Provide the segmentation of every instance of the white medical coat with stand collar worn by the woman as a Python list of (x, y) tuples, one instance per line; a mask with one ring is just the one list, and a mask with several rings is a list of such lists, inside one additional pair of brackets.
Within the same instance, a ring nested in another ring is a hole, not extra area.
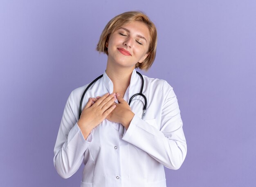
[[(186, 156), (186, 139), (173, 88), (164, 80), (144, 76), (144, 99), (136, 96), (131, 104), (135, 113), (122, 135), (122, 125), (104, 120), (85, 140), (77, 121), (83, 91), (73, 90), (67, 99), (54, 147), (54, 166), (63, 178), (69, 178), (84, 164), (81, 187), (166, 187), (164, 166), (179, 169)], [(124, 99), (138, 93), (141, 78), (133, 70)], [(85, 94), (90, 97), (113, 92), (106, 72)], [(116, 101), (117, 102), (117, 101)]]

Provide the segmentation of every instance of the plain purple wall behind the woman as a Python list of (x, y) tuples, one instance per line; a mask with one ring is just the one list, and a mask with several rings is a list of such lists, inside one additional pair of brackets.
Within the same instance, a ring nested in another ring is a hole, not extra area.
[(0, 186), (80, 186), (53, 149), (68, 95), (101, 75), (95, 50), (115, 15), (144, 11), (158, 31), (144, 75), (177, 95), (188, 152), (168, 187), (256, 185), (255, 0), (1, 0)]

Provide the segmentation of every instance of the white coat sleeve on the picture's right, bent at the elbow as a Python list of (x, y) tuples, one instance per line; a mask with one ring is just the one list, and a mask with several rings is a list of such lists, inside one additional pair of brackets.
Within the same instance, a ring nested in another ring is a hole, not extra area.
[(179, 169), (186, 157), (186, 139), (173, 88), (164, 81), (160, 130), (135, 114), (123, 140), (139, 147), (170, 169)]

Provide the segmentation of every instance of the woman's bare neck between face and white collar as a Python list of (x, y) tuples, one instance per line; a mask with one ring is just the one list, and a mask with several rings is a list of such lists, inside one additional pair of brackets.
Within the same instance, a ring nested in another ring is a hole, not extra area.
[(124, 93), (128, 86), (130, 85), (130, 79), (132, 76), (132, 68), (124, 68), (120, 66), (111, 66), (110, 63), (107, 64), (106, 74), (113, 83), (114, 90), (113, 92), (119, 92), (121, 96), (124, 96)]

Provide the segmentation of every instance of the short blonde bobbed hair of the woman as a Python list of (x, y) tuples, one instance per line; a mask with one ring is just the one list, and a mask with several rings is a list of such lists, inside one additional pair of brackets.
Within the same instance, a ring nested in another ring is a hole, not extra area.
[(124, 12), (115, 16), (115, 18), (112, 18), (112, 20), (110, 20), (103, 29), (96, 50), (108, 55), (108, 48), (106, 47), (106, 42), (108, 42), (110, 35), (124, 24), (135, 21), (146, 24), (146, 26), (148, 26), (150, 34), (150, 43), (147, 52), (149, 54), (142, 63), (138, 62), (135, 65), (135, 68), (140, 68), (141, 70), (147, 71), (155, 60), (157, 50), (157, 29), (155, 27), (155, 24), (148, 18), (148, 16), (141, 11)]

